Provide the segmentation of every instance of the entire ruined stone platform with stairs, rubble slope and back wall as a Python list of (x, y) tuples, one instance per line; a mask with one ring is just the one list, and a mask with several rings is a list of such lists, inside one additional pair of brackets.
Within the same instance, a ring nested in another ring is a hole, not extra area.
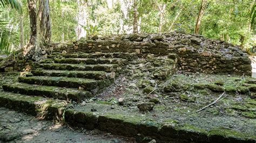
[[(256, 80), (237, 46), (181, 33), (56, 44), (0, 106), (137, 141), (255, 142)], [(5, 76), (8, 77), (8, 76)], [(199, 113), (221, 93), (225, 97)], [(141, 111), (140, 103), (153, 110)]]

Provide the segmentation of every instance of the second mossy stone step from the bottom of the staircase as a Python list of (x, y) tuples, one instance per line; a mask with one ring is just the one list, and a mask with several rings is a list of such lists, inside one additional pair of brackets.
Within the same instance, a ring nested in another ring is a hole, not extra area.
[(8, 83), (3, 86), (4, 91), (16, 92), (31, 96), (44, 96), (53, 99), (79, 102), (85, 98), (92, 97), (91, 92), (75, 88), (59, 88), (26, 83)]

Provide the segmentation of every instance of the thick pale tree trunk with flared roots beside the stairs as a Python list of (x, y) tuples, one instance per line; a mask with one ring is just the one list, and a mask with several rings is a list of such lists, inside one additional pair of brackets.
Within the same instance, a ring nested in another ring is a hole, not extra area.
[(36, 8), (37, 0), (28, 0), (30, 18), (30, 40), (25, 46), (23, 55), (26, 59), (38, 61), (46, 54), (45, 47), (51, 40), (51, 23), (49, 0), (40, 0), (39, 9)]

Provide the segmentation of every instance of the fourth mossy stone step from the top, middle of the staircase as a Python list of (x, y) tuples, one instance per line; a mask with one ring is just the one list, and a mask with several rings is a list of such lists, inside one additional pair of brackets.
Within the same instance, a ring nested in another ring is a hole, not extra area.
[(105, 71), (77, 71), (77, 70), (44, 70), (36, 69), (31, 70), (31, 73), (36, 76), (66, 76), (66, 77), (79, 77), (91, 78), (96, 80), (104, 80), (107, 78), (114, 78), (115, 73), (106, 73)]

